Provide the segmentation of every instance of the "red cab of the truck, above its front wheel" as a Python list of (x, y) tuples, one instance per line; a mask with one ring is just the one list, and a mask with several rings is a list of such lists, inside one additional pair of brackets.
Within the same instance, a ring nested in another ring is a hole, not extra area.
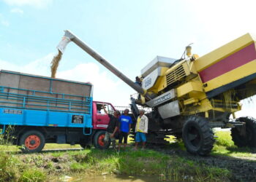
[(104, 109), (102, 108), (104, 105), (105, 109), (108, 111), (109, 114), (113, 114), (113, 107), (108, 103), (96, 103), (96, 111), (95, 111), (95, 121), (94, 121), (94, 128), (95, 129), (103, 129), (105, 130), (108, 127), (108, 123), (110, 118), (108, 114), (105, 114)]

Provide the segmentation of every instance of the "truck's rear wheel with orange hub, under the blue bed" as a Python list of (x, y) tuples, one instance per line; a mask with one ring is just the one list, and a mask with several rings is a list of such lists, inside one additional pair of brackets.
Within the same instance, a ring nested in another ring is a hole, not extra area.
[(28, 153), (42, 151), (45, 146), (45, 137), (37, 130), (26, 131), (20, 137), (20, 146), (22, 151)]

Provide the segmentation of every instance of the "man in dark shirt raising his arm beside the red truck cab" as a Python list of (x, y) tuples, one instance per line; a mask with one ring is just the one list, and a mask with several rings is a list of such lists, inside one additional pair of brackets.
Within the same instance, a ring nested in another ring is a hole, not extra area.
[[(105, 114), (108, 114), (108, 111), (106, 110), (104, 105), (102, 105), (102, 108), (104, 109)], [(110, 117), (110, 121), (108, 123), (107, 131), (105, 132), (104, 141), (108, 142), (108, 140), (110, 139), (114, 150), (116, 150), (115, 134), (116, 134), (116, 132), (118, 132), (118, 126), (119, 126), (118, 117), (120, 115), (121, 114), (119, 111), (114, 111), (114, 115), (108, 114), (108, 116)]]

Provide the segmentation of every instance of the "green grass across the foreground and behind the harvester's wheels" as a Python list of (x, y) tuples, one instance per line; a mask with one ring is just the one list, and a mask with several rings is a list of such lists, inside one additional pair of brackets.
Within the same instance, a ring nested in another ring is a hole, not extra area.
[[(256, 157), (252, 149), (234, 146), (230, 132), (216, 132), (217, 142), (212, 155), (230, 157)], [(181, 142), (170, 148), (185, 150)], [(153, 176), (162, 181), (228, 181), (231, 172), (225, 168), (210, 167), (176, 154), (167, 155), (158, 151), (102, 151), (86, 149), (76, 151), (48, 151), (38, 154), (6, 152), (18, 150), (15, 146), (1, 146), (0, 181), (59, 181), (62, 175), (133, 175)], [(10, 148), (9, 148), (10, 147)], [(47, 144), (46, 149), (80, 148), (80, 146)], [(254, 151), (255, 152), (255, 151)]]

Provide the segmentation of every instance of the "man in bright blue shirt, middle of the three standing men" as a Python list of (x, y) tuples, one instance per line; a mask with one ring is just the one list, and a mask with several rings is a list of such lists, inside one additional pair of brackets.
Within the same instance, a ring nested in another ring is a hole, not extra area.
[(132, 125), (132, 118), (128, 116), (129, 109), (126, 108), (124, 110), (124, 114), (122, 114), (119, 117), (119, 122), (120, 122), (120, 133), (119, 133), (119, 141), (118, 141), (118, 151), (120, 151), (121, 148), (121, 143), (124, 139), (124, 150), (127, 146), (127, 138), (129, 135), (129, 130), (131, 129)]

